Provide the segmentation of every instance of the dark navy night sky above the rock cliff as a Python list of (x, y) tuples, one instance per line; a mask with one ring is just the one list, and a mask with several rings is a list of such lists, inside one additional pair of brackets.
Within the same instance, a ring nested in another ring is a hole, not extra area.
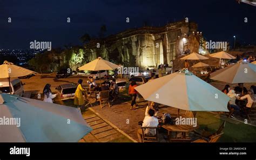
[(33, 40), (51, 41), (52, 47), (82, 45), (79, 38), (85, 33), (97, 37), (103, 24), (110, 35), (142, 27), (144, 21), (163, 26), (185, 17), (198, 24), (207, 40), (233, 43), (235, 35), (242, 44), (256, 43), (256, 7), (235, 0), (0, 0), (0, 49), (29, 49)]

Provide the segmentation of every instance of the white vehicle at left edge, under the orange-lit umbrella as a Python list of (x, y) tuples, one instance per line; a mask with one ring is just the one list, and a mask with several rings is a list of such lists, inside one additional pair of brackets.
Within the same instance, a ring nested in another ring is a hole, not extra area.
[(11, 91), (9, 86), (9, 81), (7, 78), (0, 79), (0, 91), (3, 93), (11, 93), (11, 94), (17, 94), (19, 96), (23, 96), (24, 89), (23, 89), (23, 83), (21, 82), (21, 79), (19, 78), (11, 78)]

